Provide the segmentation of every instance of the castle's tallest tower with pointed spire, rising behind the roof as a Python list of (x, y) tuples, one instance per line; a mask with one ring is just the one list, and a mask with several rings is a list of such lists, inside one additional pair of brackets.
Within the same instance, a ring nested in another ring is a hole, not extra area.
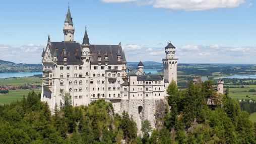
[(64, 27), (63, 27), (63, 33), (64, 33), (64, 41), (63, 42), (73, 42), (74, 41), (74, 33), (75, 28), (73, 27), (73, 21), (70, 13), (70, 6), (68, 10), (68, 14), (66, 15)]

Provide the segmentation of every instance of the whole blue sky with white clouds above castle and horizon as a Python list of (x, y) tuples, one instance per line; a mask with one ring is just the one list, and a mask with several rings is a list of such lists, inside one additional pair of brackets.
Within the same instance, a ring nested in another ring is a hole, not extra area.
[(1, 60), (40, 63), (47, 42), (63, 41), (70, 2), (74, 40), (87, 25), (91, 44), (121, 42), (127, 61), (157, 61), (167, 42), (180, 63), (255, 63), (252, 0), (3, 1)]

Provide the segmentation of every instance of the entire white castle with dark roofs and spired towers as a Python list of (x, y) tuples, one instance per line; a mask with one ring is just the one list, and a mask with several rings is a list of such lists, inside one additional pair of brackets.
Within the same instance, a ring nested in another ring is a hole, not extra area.
[(48, 36), (42, 53), (41, 101), (53, 109), (55, 104), (60, 105), (59, 94), (62, 92), (70, 93), (73, 106), (104, 99), (112, 102), (116, 113), (126, 111), (133, 116), (138, 129), (146, 119), (155, 127), (155, 103), (167, 96), (169, 82), (177, 81), (175, 47), (171, 43), (165, 47), (163, 76), (145, 74), (142, 62), (139, 62), (138, 69), (126, 72), (126, 58), (120, 43), (92, 45), (87, 29), (82, 44), (74, 41), (75, 27), (70, 8), (63, 33), (62, 42), (51, 42)]

